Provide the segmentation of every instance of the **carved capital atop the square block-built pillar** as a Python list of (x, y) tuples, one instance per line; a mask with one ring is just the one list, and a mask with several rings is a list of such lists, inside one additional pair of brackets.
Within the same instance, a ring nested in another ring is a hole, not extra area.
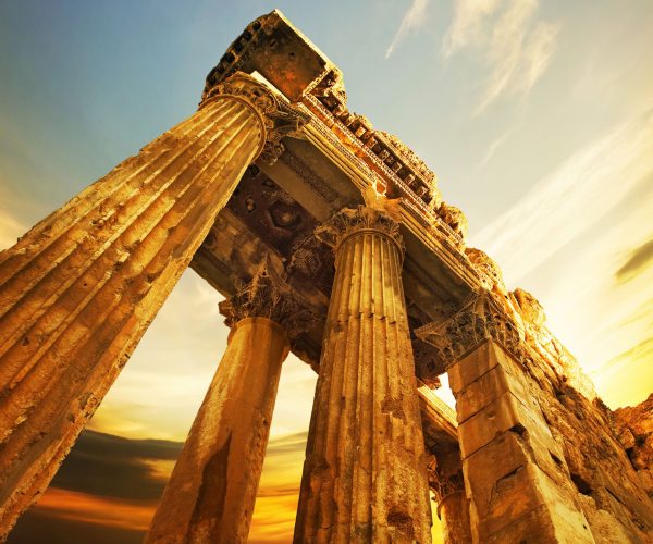
[(442, 322), (417, 329), (415, 334), (434, 346), (443, 370), (488, 339), (501, 344), (518, 360), (529, 357), (523, 331), (489, 294), (478, 296)]

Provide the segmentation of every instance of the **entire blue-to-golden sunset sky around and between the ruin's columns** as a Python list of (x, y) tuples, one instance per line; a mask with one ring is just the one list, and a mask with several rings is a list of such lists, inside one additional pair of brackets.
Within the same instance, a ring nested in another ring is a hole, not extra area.
[[(281, 9), (531, 292), (612, 408), (653, 392), (653, 2), (0, 0), (0, 249), (193, 113)], [(224, 351), (186, 272), (10, 542), (139, 542)], [(282, 371), (250, 542), (292, 535), (316, 376)], [(446, 392), (443, 396), (447, 397)]]

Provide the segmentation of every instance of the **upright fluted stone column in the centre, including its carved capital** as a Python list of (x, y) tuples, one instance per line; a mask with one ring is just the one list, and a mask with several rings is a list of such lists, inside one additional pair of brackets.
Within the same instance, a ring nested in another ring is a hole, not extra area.
[(359, 207), (317, 234), (335, 279), (295, 542), (431, 542), (398, 225)]

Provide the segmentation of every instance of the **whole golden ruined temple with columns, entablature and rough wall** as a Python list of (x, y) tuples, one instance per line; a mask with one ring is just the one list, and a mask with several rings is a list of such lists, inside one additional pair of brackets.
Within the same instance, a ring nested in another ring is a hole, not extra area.
[[(0, 534), (182, 272), (231, 327), (146, 542), (246, 542), (281, 364), (319, 374), (295, 542), (653, 542), (653, 397), (611, 411), (279, 12), (199, 109), (0, 254)], [(433, 394), (448, 375), (456, 413)]]

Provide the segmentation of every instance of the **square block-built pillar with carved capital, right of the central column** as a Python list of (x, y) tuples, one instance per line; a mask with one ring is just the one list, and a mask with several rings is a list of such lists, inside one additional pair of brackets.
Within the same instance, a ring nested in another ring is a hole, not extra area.
[(440, 349), (456, 397), (472, 542), (594, 542), (516, 323), (485, 295), (417, 334)]

